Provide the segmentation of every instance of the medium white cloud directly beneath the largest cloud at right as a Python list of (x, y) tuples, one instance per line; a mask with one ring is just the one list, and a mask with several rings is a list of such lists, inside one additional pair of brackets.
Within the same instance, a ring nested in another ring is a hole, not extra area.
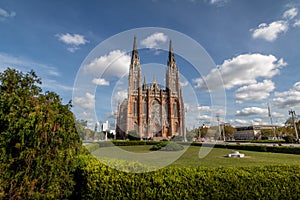
[(258, 101), (269, 97), (270, 92), (274, 89), (275, 85), (271, 80), (264, 80), (263, 82), (256, 82), (240, 87), (235, 93), (235, 98), (237, 103), (242, 103), (243, 101)]

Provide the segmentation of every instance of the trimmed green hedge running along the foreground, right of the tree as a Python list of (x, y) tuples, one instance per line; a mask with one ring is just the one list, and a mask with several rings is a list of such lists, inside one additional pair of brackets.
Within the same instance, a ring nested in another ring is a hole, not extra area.
[(135, 174), (79, 156), (75, 182), (76, 199), (300, 199), (300, 166), (165, 168)]

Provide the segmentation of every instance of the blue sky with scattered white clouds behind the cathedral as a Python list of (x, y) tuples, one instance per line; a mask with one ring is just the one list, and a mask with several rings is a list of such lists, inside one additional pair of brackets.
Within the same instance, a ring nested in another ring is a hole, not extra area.
[(134, 36), (147, 83), (162, 86), (172, 40), (189, 129), (300, 112), (300, 1), (0, 0), (0, 70), (33, 69), (90, 125), (114, 122)]

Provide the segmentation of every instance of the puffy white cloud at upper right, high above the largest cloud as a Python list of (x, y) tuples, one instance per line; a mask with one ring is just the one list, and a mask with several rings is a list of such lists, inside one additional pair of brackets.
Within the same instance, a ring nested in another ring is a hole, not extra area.
[(253, 32), (252, 37), (254, 39), (260, 38), (272, 42), (277, 39), (280, 33), (285, 33), (288, 28), (289, 26), (286, 21), (279, 20), (270, 24), (262, 23), (258, 28), (251, 31)]

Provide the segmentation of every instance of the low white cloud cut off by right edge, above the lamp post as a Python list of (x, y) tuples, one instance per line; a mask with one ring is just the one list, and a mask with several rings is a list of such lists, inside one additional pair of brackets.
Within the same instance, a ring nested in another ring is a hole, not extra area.
[(278, 108), (300, 107), (300, 82), (295, 83), (288, 91), (275, 92), (273, 102)]

